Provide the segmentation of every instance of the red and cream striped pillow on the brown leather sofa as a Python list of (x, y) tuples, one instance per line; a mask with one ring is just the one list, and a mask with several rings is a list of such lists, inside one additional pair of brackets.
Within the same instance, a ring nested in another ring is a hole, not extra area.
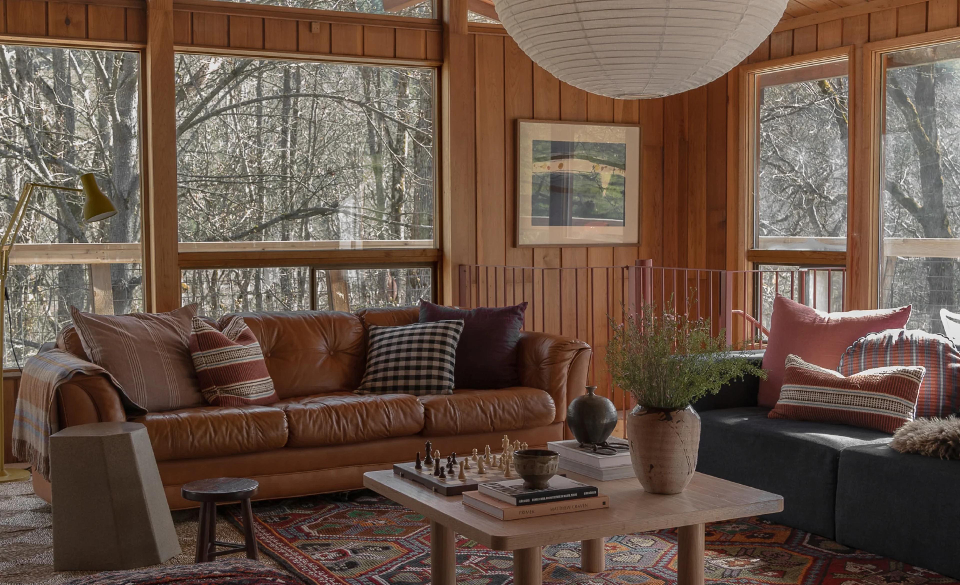
[(241, 406), (279, 400), (260, 344), (243, 317), (228, 319), (223, 329), (194, 317), (190, 353), (206, 402)]

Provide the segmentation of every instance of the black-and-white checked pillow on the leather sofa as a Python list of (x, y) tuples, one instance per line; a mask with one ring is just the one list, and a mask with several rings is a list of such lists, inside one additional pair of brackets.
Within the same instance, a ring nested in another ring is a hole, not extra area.
[(357, 394), (453, 394), (463, 319), (369, 329), (367, 373)]

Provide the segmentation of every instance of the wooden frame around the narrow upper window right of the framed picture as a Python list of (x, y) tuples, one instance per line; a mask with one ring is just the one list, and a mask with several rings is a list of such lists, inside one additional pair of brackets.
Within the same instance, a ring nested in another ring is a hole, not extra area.
[(744, 269), (746, 266), (756, 266), (761, 264), (779, 264), (796, 266), (846, 266), (851, 253), (851, 234), (852, 234), (852, 198), (854, 173), (854, 155), (855, 136), (857, 132), (857, 123), (854, 116), (850, 116), (851, 129), (848, 138), (848, 164), (847, 164), (847, 250), (846, 251), (828, 251), (828, 250), (769, 250), (756, 248), (756, 168), (759, 161), (759, 107), (760, 91), (763, 85), (760, 78), (764, 75), (776, 73), (789, 73), (799, 71), (810, 66), (818, 64), (827, 65), (838, 61), (847, 61), (850, 95), (848, 98), (851, 104), (851, 111), (855, 110), (856, 105), (856, 83), (855, 83), (855, 47), (844, 46), (826, 51), (807, 53), (793, 57), (775, 59), (771, 61), (760, 61), (739, 67), (739, 151), (735, 156), (739, 158), (739, 185), (738, 185), (738, 207), (737, 217), (740, 224), (740, 236), (742, 239), (739, 250), (743, 252), (742, 257), (738, 258), (738, 266), (729, 266), (730, 269)]

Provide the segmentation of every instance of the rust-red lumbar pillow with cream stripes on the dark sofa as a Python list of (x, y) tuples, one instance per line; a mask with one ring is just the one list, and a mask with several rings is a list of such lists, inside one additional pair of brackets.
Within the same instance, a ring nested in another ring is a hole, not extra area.
[(893, 433), (913, 420), (923, 366), (894, 366), (842, 374), (787, 355), (780, 400), (771, 419), (819, 421)]

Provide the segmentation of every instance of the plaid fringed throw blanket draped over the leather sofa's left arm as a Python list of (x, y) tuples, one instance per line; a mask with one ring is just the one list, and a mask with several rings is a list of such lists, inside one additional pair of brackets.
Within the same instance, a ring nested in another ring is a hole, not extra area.
[[(60, 384), (78, 374), (99, 374), (120, 388), (107, 370), (63, 350), (37, 353), (23, 366), (13, 414), (13, 456), (20, 461), (29, 461), (34, 471), (48, 480), (50, 435), (60, 430), (55, 428), (57, 424), (51, 416), (54, 397)], [(120, 396), (123, 396), (122, 392)]]

